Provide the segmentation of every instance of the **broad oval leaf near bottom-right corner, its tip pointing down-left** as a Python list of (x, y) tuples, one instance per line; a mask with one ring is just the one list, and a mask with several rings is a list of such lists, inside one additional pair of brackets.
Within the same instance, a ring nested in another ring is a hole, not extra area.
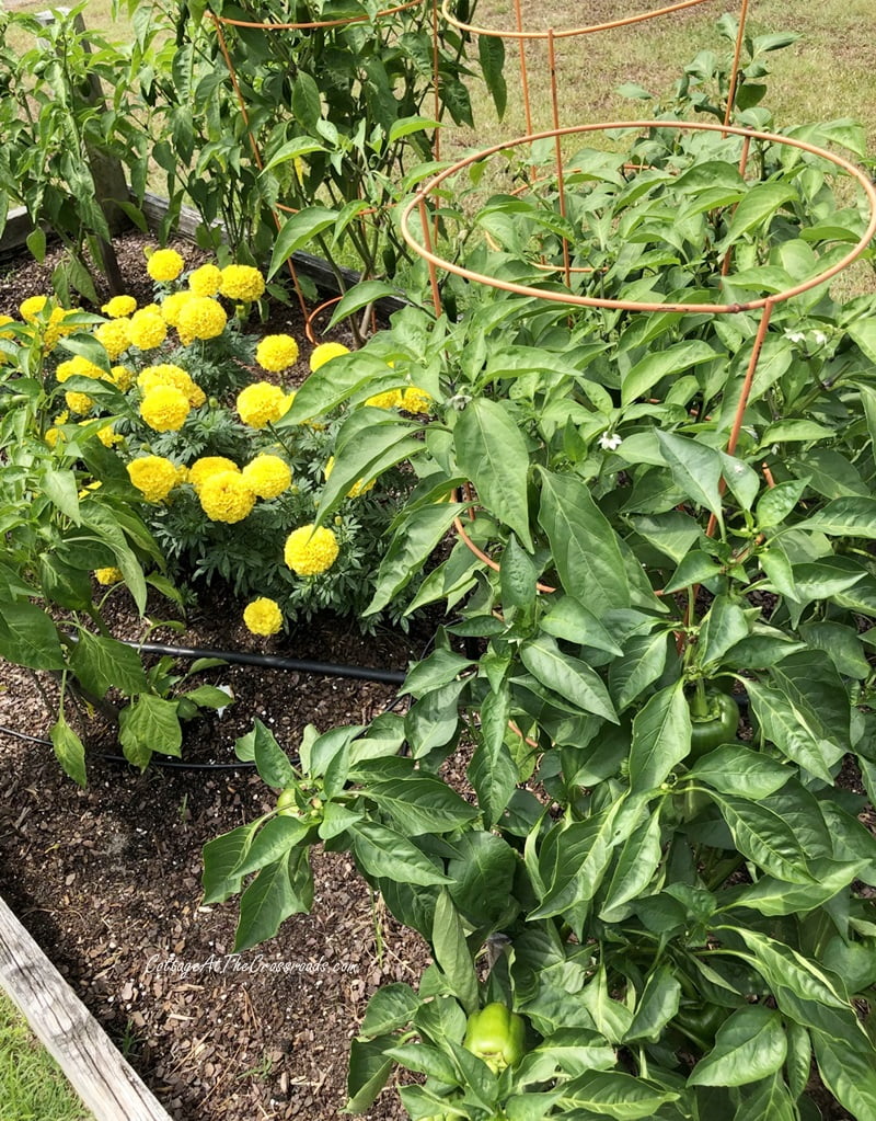
[(689, 1086), (744, 1086), (777, 1071), (788, 1055), (779, 1012), (739, 1008), (718, 1028), (715, 1046), (688, 1078)]

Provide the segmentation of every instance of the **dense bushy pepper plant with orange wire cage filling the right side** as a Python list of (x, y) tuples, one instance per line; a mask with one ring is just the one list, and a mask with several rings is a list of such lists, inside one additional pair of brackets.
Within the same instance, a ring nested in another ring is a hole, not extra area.
[[(468, 263), (557, 291), (565, 237), (603, 298), (790, 289), (866, 215), (817, 157), (753, 150), (754, 180), (720, 135), (585, 150), (565, 216), (549, 184), (493, 197)], [(249, 948), (310, 908), (321, 843), (429, 942), (419, 985), (369, 1004), (353, 1112), (398, 1065), (423, 1076), (398, 1087), (416, 1121), (810, 1121), (828, 1099), (869, 1121), (876, 297), (776, 304), (735, 438), (755, 314), (446, 290), (455, 316), (400, 312), (287, 417), (431, 395), (428, 421), (351, 413), (317, 521), (408, 462), (370, 610), (413, 582), (446, 626), (407, 714), (291, 757), (261, 724), (239, 743), (280, 808), (206, 846), (206, 901), (242, 892)]]

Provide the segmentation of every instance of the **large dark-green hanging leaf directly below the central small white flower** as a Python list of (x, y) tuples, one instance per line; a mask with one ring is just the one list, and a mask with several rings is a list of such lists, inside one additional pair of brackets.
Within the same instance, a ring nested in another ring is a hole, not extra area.
[(602, 618), (630, 606), (624, 559), (611, 524), (586, 484), (542, 470), (539, 524), (548, 535), (565, 591)]

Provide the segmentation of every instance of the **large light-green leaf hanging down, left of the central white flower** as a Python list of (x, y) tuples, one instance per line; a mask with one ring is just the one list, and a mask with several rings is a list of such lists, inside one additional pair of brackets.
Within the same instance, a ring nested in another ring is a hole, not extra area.
[(529, 448), (505, 404), (476, 398), (454, 428), (459, 470), (472, 480), (481, 504), (532, 549), (529, 530)]

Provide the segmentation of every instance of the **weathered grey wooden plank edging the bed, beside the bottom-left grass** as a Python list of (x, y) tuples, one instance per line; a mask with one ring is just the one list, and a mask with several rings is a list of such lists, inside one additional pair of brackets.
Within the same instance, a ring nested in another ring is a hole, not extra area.
[(2, 897), (0, 985), (96, 1121), (173, 1121)]

